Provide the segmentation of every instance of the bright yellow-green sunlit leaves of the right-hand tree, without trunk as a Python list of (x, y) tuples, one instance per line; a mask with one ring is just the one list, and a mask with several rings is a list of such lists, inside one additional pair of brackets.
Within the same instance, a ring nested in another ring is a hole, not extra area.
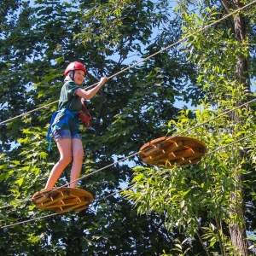
[[(201, 9), (199, 14), (183, 13), (184, 35), (191, 35), (219, 15), (202, 15), (205, 10), (212, 12), (207, 8)], [(187, 40), (188, 61), (195, 61), (198, 67), (197, 82), (203, 85), (206, 99), (192, 111), (180, 111), (168, 124), (172, 135), (200, 139), (207, 145), (207, 154), (195, 166), (177, 168), (178, 173), (176, 168), (135, 169), (134, 187), (125, 195), (138, 205), (141, 214), (166, 211), (166, 226), (171, 230), (178, 226), (190, 237), (200, 236), (202, 228), (202, 239), (209, 251), (237, 253), (231, 246), (230, 234), (224, 234), (224, 226), (230, 222), (242, 223), (239, 212), (230, 214), (243, 200), (241, 186), (246, 184), (249, 196), (252, 193), (252, 180), (242, 183), (237, 177), (249, 175), (255, 165), (255, 118), (252, 109), (235, 108), (239, 102), (247, 100), (243, 84), (234, 73), (237, 56), (247, 57), (248, 42), (240, 44), (229, 29), (224, 31), (223, 26), (219, 27), (222, 30), (209, 28)], [(249, 138), (243, 140), (247, 136)], [(245, 148), (250, 148), (251, 156)], [(159, 188), (161, 193), (158, 193)], [(234, 194), (236, 201), (232, 200)], [(177, 248), (183, 252), (180, 244)]]

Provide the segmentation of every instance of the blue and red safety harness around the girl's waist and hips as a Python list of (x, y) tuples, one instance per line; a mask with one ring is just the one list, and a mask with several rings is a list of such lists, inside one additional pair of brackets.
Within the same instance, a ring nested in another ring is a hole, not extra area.
[[(67, 109), (61, 109), (58, 111), (55, 111), (50, 119), (50, 124), (49, 124), (49, 129), (46, 137), (46, 141), (49, 142), (48, 146), (48, 151), (51, 149), (51, 137), (55, 133), (58, 128), (61, 127), (63, 124), (67, 124), (69, 119), (75, 118), (75, 115), (78, 114), (78, 118), (87, 126), (90, 127), (90, 119), (91, 115), (88, 111), (88, 109), (85, 107), (84, 100), (81, 98), (81, 103), (82, 103), (82, 110), (81, 111), (69, 111)], [(52, 124), (54, 123), (55, 117), (58, 113), (63, 112), (65, 113), (64, 117), (60, 119), (54, 127), (52, 127)], [(79, 124), (79, 119), (78, 119), (78, 124)], [(73, 133), (77, 133), (79, 130), (74, 131)]]

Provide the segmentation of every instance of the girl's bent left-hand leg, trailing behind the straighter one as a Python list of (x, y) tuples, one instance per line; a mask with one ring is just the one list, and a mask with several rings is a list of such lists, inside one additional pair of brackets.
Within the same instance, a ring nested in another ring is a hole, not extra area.
[(72, 142), (70, 138), (57, 141), (57, 147), (60, 152), (60, 160), (51, 170), (45, 189), (50, 189), (55, 185), (57, 179), (61, 176), (61, 172), (63, 172), (72, 161)]

